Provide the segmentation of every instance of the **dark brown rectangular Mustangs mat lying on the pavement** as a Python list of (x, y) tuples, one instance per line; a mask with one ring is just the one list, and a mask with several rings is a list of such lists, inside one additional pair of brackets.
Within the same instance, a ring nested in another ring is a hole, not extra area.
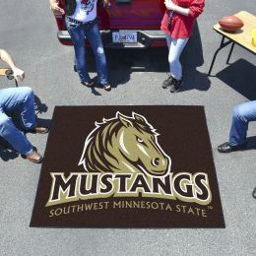
[(224, 227), (204, 107), (55, 107), (31, 226)]

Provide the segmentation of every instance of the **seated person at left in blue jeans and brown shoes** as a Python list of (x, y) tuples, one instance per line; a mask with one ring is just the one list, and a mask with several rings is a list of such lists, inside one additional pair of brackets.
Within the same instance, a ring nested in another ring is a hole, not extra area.
[[(0, 59), (7, 63), (17, 81), (23, 81), (25, 73), (19, 69), (9, 53), (0, 49)], [(37, 126), (34, 114), (34, 96), (29, 87), (7, 88), (0, 90), (0, 136), (5, 139), (25, 159), (35, 163), (43, 160), (32, 144), (13, 120), (13, 115), (19, 119), (19, 125), (26, 132), (47, 133), (48, 128)]]

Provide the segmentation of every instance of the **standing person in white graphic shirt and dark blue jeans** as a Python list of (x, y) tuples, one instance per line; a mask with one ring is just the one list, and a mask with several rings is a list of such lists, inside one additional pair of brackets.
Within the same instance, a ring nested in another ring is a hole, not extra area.
[[(109, 0), (102, 0), (104, 5)], [(59, 7), (58, 0), (49, 0), (54, 15), (65, 15), (67, 30), (71, 36), (75, 49), (75, 67), (82, 85), (93, 87), (94, 81), (90, 78), (87, 68), (85, 40), (88, 39), (96, 56), (96, 70), (99, 85), (110, 91), (106, 59), (97, 26), (97, 0), (65, 0), (65, 8)]]

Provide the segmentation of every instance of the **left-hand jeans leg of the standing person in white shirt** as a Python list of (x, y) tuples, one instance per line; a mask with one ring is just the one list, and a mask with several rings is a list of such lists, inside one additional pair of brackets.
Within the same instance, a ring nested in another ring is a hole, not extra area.
[(86, 47), (85, 47), (85, 28), (83, 25), (71, 23), (66, 17), (66, 27), (71, 36), (75, 50), (75, 65), (81, 82), (91, 82), (91, 78), (87, 70)]

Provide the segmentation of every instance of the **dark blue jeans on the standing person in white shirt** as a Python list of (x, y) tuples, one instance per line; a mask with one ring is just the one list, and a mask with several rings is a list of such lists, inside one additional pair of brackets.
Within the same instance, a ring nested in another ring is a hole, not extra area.
[(81, 82), (90, 82), (86, 61), (86, 39), (89, 40), (96, 56), (96, 71), (98, 83), (107, 84), (106, 60), (101, 40), (101, 35), (96, 22), (93, 24), (75, 24), (66, 17), (66, 27), (71, 36), (75, 48), (75, 65)]

